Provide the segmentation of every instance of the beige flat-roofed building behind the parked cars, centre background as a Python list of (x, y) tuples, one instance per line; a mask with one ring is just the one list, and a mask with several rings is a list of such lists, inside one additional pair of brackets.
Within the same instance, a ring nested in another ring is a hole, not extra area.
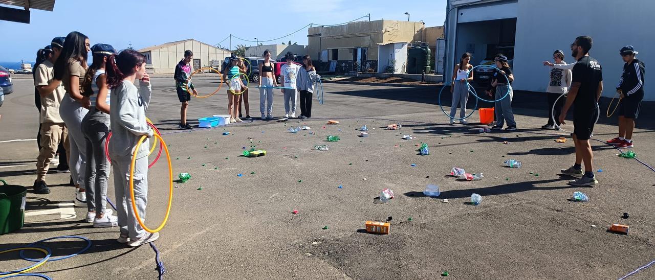
[[(307, 54), (320, 61), (322, 71), (347, 72), (356, 61), (361, 71), (377, 69), (379, 46), (390, 43), (430, 43), (441, 37), (442, 27), (425, 27), (423, 22), (374, 20), (341, 26), (310, 27)], [(433, 39), (434, 37), (434, 39)], [(431, 41), (428, 41), (431, 40)], [(337, 61), (336, 63), (329, 63)]]

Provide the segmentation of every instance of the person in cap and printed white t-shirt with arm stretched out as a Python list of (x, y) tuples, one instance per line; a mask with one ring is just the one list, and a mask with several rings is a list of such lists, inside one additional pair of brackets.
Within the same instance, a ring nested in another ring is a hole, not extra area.
[[(553, 60), (555, 60), (555, 63), (544, 61), (544, 65), (567, 65), (564, 61), (564, 52), (562, 50), (555, 50), (555, 52), (553, 52)], [(555, 99), (562, 94), (569, 92), (571, 79), (572, 74), (570, 69), (559, 69), (555, 67), (550, 69), (550, 83), (548, 84), (548, 88), (546, 88), (546, 94), (548, 94), (548, 123), (545, 126), (542, 126), (542, 129), (551, 130), (555, 128), (555, 130), (557, 130), (557, 127), (555, 127), (554, 124), (557, 124), (557, 126), (560, 125), (559, 113), (561, 113), (562, 107), (564, 106), (564, 99), (560, 98), (557, 101), (557, 104), (555, 104)], [(553, 107), (555, 111), (554, 114)]]

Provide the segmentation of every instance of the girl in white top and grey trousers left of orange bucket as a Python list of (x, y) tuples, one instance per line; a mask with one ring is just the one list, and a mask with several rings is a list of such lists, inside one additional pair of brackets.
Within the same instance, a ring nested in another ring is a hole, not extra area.
[(455, 113), (457, 113), (457, 104), (459, 104), (459, 120), (461, 124), (468, 124), (464, 116), (466, 116), (466, 101), (468, 101), (468, 86), (466, 82), (473, 82), (473, 65), (468, 62), (471, 61), (471, 54), (464, 52), (459, 64), (455, 65), (453, 70), (453, 85), (451, 86), (451, 93), (453, 94), (453, 103), (451, 103), (450, 123), (455, 124)]

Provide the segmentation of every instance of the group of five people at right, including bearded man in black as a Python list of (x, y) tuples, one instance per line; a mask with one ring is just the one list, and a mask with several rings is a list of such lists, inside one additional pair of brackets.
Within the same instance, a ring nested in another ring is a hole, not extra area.
[[(548, 93), (548, 123), (542, 126), (542, 129), (559, 130), (559, 126), (565, 124), (569, 109), (572, 106), (575, 107), (572, 137), (576, 150), (576, 160), (573, 166), (568, 169), (561, 169), (561, 174), (579, 178), (569, 182), (574, 186), (593, 186), (598, 183), (593, 175), (593, 152), (591, 151), (589, 138), (598, 118), (598, 101), (603, 92), (603, 74), (600, 63), (589, 56), (592, 44), (593, 40), (589, 36), (576, 38), (574, 43), (571, 44), (571, 56), (576, 59), (574, 63), (567, 64), (564, 61), (565, 55), (562, 50), (553, 52), (554, 63), (544, 61), (544, 65), (548, 65), (552, 69), (550, 71), (550, 82), (546, 90)], [(624, 46), (619, 54), (625, 62), (623, 73), (616, 86), (616, 93), (620, 97), (616, 109), (618, 110), (619, 133), (618, 137), (608, 140), (607, 143), (619, 148), (632, 148), (634, 147), (632, 134), (635, 128), (635, 119), (639, 115), (641, 101), (644, 97), (645, 64), (637, 59), (636, 55), (639, 52), (633, 46)], [(464, 116), (466, 116), (465, 109), (469, 91), (467, 84), (473, 81), (473, 73), (470, 71), (473, 66), (469, 63), (471, 57), (468, 52), (463, 54), (462, 60), (455, 66), (453, 71), (451, 124), (455, 123), (458, 104), (461, 108), (460, 122), (468, 124)], [(498, 69), (494, 71), (491, 86), (487, 89), (487, 95), (491, 96), (495, 91), (496, 100), (505, 94), (509, 96), (495, 103), (496, 122), (493, 129), (502, 129), (503, 122), (506, 120), (508, 127), (505, 130), (516, 130), (511, 103), (514, 75), (512, 75), (512, 69), (510, 69), (505, 56), (497, 54), (495, 62)], [(562, 94), (566, 94), (567, 98), (560, 98), (555, 103)], [(557, 125), (555, 126), (555, 124)], [(582, 171), (583, 162), (584, 172)]]

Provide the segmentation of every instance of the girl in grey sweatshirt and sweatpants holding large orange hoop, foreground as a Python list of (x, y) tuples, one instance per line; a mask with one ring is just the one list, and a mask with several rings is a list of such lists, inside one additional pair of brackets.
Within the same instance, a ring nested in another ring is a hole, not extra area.
[[(150, 234), (141, 228), (130, 197), (130, 169), (132, 154), (134, 163), (134, 203), (141, 219), (145, 219), (148, 194), (148, 151), (149, 140), (145, 139), (139, 150), (134, 150), (143, 135), (153, 137), (153, 130), (145, 122), (145, 111), (150, 103), (152, 88), (150, 77), (145, 73), (145, 56), (136, 50), (123, 50), (107, 58), (107, 85), (111, 89), (111, 141), (109, 156), (114, 167), (114, 191), (118, 207), (118, 224), (121, 228), (119, 243), (130, 247), (157, 240), (159, 234)], [(139, 80), (140, 88), (134, 86)]]

